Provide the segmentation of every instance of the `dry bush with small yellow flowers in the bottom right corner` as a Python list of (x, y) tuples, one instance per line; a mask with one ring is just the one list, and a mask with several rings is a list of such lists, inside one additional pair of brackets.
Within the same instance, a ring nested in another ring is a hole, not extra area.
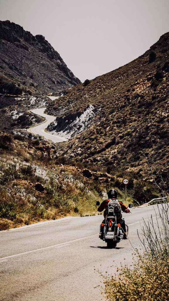
[(133, 269), (124, 266), (117, 278), (105, 277), (106, 300), (163, 301), (168, 300), (169, 259), (164, 253), (153, 260), (143, 256)]

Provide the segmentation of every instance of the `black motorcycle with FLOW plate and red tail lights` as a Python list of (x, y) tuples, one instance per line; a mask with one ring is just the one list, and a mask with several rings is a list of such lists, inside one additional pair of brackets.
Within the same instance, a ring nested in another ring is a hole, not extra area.
[[(99, 206), (100, 202), (97, 201), (96, 205)], [(128, 205), (129, 208), (133, 207), (133, 204)], [(128, 235), (128, 225), (126, 225)], [(99, 237), (107, 243), (107, 248), (115, 248), (117, 244), (123, 240), (124, 230), (120, 223), (117, 223), (117, 217), (114, 212), (114, 207), (109, 206), (105, 222), (100, 225)]]

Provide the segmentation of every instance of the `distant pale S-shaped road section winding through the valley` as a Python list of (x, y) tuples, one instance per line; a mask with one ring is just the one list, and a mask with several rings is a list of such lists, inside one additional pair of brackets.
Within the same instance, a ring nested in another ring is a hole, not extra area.
[(30, 110), (32, 113), (44, 117), (46, 119), (46, 121), (44, 123), (40, 123), (38, 126), (29, 128), (28, 132), (32, 132), (36, 135), (45, 137), (46, 139), (51, 140), (55, 143), (68, 141), (68, 139), (66, 139), (66, 138), (52, 135), (52, 134), (49, 134), (48, 132), (45, 132), (45, 129), (47, 128), (47, 126), (56, 119), (56, 117), (54, 117), (54, 116), (45, 114), (44, 113), (45, 110), (46, 110), (46, 108), (36, 108), (36, 109)]

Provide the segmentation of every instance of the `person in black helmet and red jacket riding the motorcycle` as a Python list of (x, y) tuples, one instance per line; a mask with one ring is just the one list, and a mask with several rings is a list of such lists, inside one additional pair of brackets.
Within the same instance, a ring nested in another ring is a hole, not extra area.
[[(110, 200), (117, 200), (117, 191), (115, 189), (110, 189), (107, 193), (108, 195), (108, 199), (104, 200), (101, 205), (98, 207), (97, 211), (102, 212), (104, 209), (104, 220), (103, 223), (105, 223), (105, 219), (106, 219), (106, 209), (107, 209), (107, 205), (109, 203)], [(125, 213), (129, 213), (130, 210), (127, 209), (127, 207), (123, 204), (123, 202), (121, 200), (117, 200), (121, 206), (121, 210)], [(126, 225), (125, 225), (125, 221), (124, 219), (122, 219), (122, 214), (121, 216), (117, 219), (117, 223), (119, 223), (121, 225), (121, 228), (124, 231), (124, 236), (123, 239), (127, 239), (127, 232), (126, 232)], [(100, 238), (102, 239), (102, 237), (100, 236)]]

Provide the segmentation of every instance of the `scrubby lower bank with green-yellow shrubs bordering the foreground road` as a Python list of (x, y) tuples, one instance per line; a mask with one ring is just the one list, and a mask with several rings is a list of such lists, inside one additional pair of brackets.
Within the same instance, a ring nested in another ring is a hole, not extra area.
[[(124, 201), (122, 178), (61, 164), (56, 144), (32, 134), (0, 132), (0, 230), (96, 213), (95, 201), (111, 187)], [(128, 174), (128, 203), (145, 203), (158, 196), (154, 185)]]

